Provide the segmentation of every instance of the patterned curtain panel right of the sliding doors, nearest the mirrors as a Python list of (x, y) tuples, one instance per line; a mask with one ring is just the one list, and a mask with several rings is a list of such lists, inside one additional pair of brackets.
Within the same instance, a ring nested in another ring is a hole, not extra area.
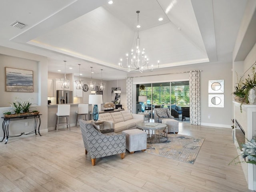
[(190, 124), (201, 124), (200, 70), (189, 72)]

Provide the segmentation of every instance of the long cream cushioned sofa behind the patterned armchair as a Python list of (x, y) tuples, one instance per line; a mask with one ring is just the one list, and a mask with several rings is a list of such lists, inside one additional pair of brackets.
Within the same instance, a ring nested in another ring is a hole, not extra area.
[(99, 114), (98, 120), (104, 121), (104, 128), (114, 128), (115, 133), (136, 129), (137, 124), (144, 122), (143, 114), (131, 114), (128, 110)]

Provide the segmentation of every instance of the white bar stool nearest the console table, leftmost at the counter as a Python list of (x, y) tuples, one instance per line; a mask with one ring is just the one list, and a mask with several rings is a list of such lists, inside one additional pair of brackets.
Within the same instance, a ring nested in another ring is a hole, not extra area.
[[(69, 122), (69, 116), (70, 116), (70, 105), (69, 104), (59, 104), (58, 105), (58, 112), (56, 113), (56, 124), (55, 124), (55, 130), (58, 132), (59, 125), (67, 125), (67, 128), (69, 126), (70, 130), (70, 122)], [(66, 122), (59, 122), (60, 117), (65, 117)]]

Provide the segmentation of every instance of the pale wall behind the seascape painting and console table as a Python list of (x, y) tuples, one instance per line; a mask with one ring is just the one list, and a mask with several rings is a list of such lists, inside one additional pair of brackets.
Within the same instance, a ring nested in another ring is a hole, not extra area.
[[(29, 69), (34, 72), (34, 92), (6, 92), (5, 91), (5, 71), (4, 67), (15, 67), (21, 69)], [(36, 108), (40, 111), (41, 127), (40, 132), (47, 132), (47, 70), (48, 62), (44, 56), (36, 54), (30, 54), (11, 48), (0, 46), (0, 116), (6, 110), (11, 110), (9, 102), (12, 102), (17, 96), (23, 100), (28, 98), (34, 98)], [(3, 119), (0, 118), (0, 124), (2, 125)], [(25, 126), (25, 120), (13, 121), (9, 125), (9, 134), (20, 134), (21, 132), (30, 132), (33, 130), (33, 120), (26, 120), (29, 122), (29, 126)], [(3, 131), (0, 129), (0, 137), (3, 136)]]

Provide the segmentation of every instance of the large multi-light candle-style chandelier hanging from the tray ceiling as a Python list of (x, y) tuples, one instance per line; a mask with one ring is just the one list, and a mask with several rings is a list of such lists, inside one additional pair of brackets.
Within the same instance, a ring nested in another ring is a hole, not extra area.
[[(137, 39), (136, 39), (136, 49), (135, 51), (132, 49), (131, 55), (129, 57), (128, 54), (126, 54), (126, 64), (123, 65), (123, 60), (120, 59), (119, 69), (120, 70), (126, 70), (128, 72), (130, 71), (153, 71), (153, 65), (149, 65), (148, 58), (146, 56), (145, 48), (143, 48), (142, 52), (140, 50), (140, 38), (139, 38), (139, 13), (140, 11), (136, 11), (138, 14), (138, 25), (137, 25)], [(158, 61), (158, 67), (159, 68), (159, 61)]]

